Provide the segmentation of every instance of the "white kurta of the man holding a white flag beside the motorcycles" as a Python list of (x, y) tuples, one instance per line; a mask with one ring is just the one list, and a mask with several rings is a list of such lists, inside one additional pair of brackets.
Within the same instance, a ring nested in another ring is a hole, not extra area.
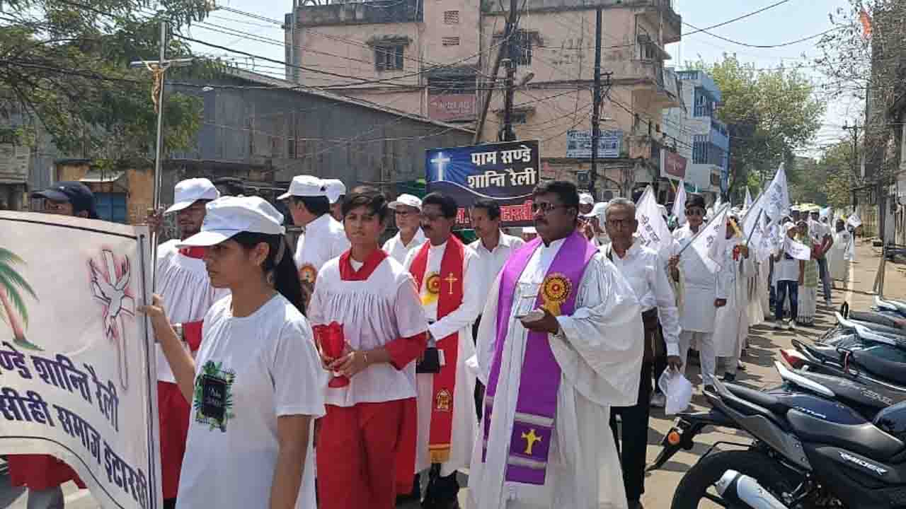
[[(673, 238), (679, 242), (679, 249), (686, 247), (694, 237), (689, 225), (673, 232)], [(679, 277), (682, 279), (680, 286), (683, 291), (679, 326), (683, 331), (713, 332), (717, 318), (714, 301), (727, 298), (723, 282), (716, 274), (708, 271), (708, 266), (691, 247), (679, 255)]]

